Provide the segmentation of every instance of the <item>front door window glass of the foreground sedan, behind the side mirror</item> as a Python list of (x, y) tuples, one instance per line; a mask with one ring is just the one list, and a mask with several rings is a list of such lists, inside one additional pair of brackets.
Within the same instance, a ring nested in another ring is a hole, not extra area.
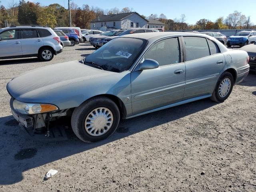
[(154, 44), (144, 59), (154, 59), (159, 66), (180, 63), (180, 45), (178, 38), (162, 40)]

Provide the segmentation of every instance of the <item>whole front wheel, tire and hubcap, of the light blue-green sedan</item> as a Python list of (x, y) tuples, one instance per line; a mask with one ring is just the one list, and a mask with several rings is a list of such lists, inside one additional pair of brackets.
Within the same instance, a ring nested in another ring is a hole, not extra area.
[(84, 142), (96, 142), (111, 136), (120, 120), (118, 106), (109, 98), (92, 98), (77, 107), (71, 118), (76, 136)]

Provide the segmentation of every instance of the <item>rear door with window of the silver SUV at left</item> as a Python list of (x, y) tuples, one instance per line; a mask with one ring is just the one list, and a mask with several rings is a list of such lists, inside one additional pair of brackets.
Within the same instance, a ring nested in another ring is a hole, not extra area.
[(44, 45), (42, 38), (35, 28), (21, 29), (21, 48), (24, 56), (35, 56), (40, 47)]

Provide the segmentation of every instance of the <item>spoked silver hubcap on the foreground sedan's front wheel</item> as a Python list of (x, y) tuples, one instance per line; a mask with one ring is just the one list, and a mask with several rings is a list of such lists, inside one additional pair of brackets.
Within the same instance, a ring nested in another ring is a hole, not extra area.
[(92, 110), (85, 119), (86, 132), (92, 136), (105, 134), (113, 123), (113, 114), (108, 108), (99, 107)]

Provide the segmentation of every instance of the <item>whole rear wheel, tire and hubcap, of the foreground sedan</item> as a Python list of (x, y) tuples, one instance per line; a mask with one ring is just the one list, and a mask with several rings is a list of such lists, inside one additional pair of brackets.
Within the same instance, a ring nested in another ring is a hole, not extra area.
[(224, 102), (232, 92), (234, 78), (230, 72), (224, 72), (212, 93), (211, 100), (215, 102)]

